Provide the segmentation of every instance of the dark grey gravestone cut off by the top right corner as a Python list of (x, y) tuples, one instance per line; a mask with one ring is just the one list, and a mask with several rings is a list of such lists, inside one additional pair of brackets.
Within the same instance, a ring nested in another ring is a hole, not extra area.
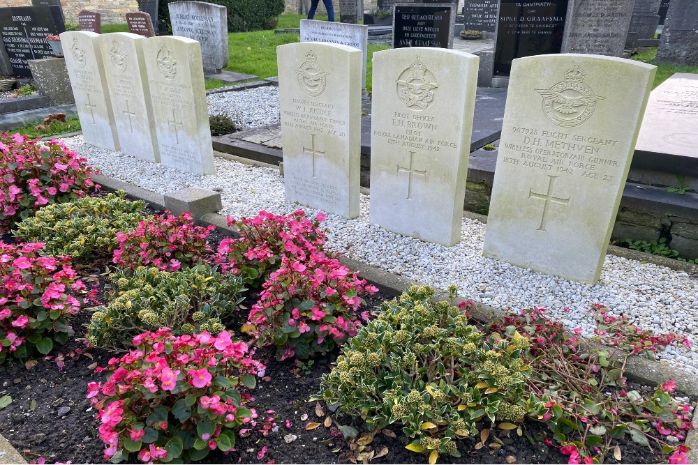
[(671, 0), (657, 61), (698, 66), (698, 1)]

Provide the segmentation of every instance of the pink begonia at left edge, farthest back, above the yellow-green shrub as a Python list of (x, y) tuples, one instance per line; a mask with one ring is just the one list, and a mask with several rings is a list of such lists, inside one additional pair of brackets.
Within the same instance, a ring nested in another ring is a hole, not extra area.
[(0, 233), (43, 205), (84, 197), (98, 174), (63, 142), (0, 135)]

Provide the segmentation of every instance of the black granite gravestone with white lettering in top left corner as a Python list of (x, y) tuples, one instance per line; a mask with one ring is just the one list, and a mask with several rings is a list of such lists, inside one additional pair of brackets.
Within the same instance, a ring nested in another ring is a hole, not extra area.
[(27, 60), (53, 56), (46, 36), (64, 32), (62, 20), (59, 6), (0, 8), (0, 38), (15, 75), (31, 77)]

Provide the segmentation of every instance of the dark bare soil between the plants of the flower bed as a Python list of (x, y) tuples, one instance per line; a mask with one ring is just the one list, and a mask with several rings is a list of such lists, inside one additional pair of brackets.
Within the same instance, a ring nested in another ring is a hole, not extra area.
[[(218, 243), (223, 237), (223, 234), (215, 231), (210, 236), (211, 243)], [(11, 236), (3, 236), (2, 239), (11, 241)], [(88, 288), (99, 289), (99, 299), (103, 299), (101, 275), (108, 266), (107, 260), (103, 259), (80, 269)], [(257, 296), (255, 291), (248, 291), (243, 305), (251, 307)], [(365, 297), (365, 300), (367, 307), (373, 309), (389, 298), (391, 297), (379, 293)], [(246, 321), (246, 316), (247, 312), (243, 310), (224, 323), (228, 328), (237, 330)], [(89, 321), (89, 317), (89, 312), (73, 317), (71, 323), (76, 335), (82, 334), (82, 325)], [(206, 463), (361, 463), (361, 457), (357, 457), (357, 454), (371, 450), (376, 455), (387, 450), (382, 457), (371, 459), (371, 464), (426, 463), (424, 455), (405, 449), (399, 428), (393, 428), (393, 434), (386, 434), (383, 430), (375, 435), (370, 444), (359, 446), (355, 441), (344, 439), (338, 427), (351, 425), (357, 429), (359, 436), (364, 436), (367, 431), (360, 419), (332, 413), (325, 404), (320, 405), (321, 412), (316, 411), (316, 402), (309, 402), (310, 397), (318, 392), (320, 376), (329, 372), (332, 362), (339, 355), (339, 349), (314, 360), (308, 368), (295, 367), (293, 360), (277, 362), (274, 353), (273, 347), (267, 347), (258, 349), (255, 354), (255, 358), (267, 365), (264, 378), (258, 379), (258, 386), (252, 392), (255, 399), (249, 405), (258, 411), (258, 425), (244, 434), (245, 437), (237, 438), (235, 450), (225, 455), (221, 452), (211, 453), (205, 460)], [(105, 378), (104, 374), (96, 373), (94, 368), (105, 366), (107, 360), (115, 355), (117, 354), (102, 349), (88, 349), (79, 340), (69, 340), (66, 345), (54, 351), (52, 356), (37, 359), (36, 365), (31, 369), (21, 363), (0, 365), (0, 397), (10, 395), (13, 399), (12, 404), (0, 410), (0, 433), (29, 461), (45, 457), (47, 463), (69, 460), (74, 464), (104, 463), (103, 444), (98, 439), (98, 424), (94, 420), (95, 411), (89, 406), (85, 395), (89, 381), (103, 381)], [(643, 386), (630, 387), (637, 390), (649, 389)], [(318, 416), (317, 413), (322, 415)], [(325, 427), (322, 424), (328, 416), (332, 424)], [(265, 437), (260, 429), (267, 417), (274, 417), (277, 428)], [(286, 427), (286, 420), (290, 422), (289, 428)], [(320, 423), (320, 426), (306, 430), (309, 422)], [(284, 436), (288, 434), (297, 438), (286, 443)], [(439, 463), (566, 463), (567, 457), (560, 455), (557, 448), (544, 445), (544, 437), (551, 435), (544, 425), (537, 422), (524, 423), (521, 437), (515, 430), (504, 432), (493, 429), (484, 447), (475, 449), (479, 439), (463, 439), (459, 441), (461, 457), (442, 455)], [(264, 448), (267, 448), (266, 454), (258, 458)], [(665, 463), (668, 458), (632, 442), (621, 443), (621, 450), (622, 463)], [(131, 459), (135, 461), (135, 454), (131, 455)], [(611, 456), (607, 457), (606, 463), (618, 462)]]

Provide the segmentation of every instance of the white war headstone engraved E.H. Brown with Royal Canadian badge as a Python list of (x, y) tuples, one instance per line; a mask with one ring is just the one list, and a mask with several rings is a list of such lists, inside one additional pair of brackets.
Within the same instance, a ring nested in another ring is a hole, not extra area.
[(478, 62), (433, 47), (373, 54), (372, 223), (422, 241), (460, 241)]

